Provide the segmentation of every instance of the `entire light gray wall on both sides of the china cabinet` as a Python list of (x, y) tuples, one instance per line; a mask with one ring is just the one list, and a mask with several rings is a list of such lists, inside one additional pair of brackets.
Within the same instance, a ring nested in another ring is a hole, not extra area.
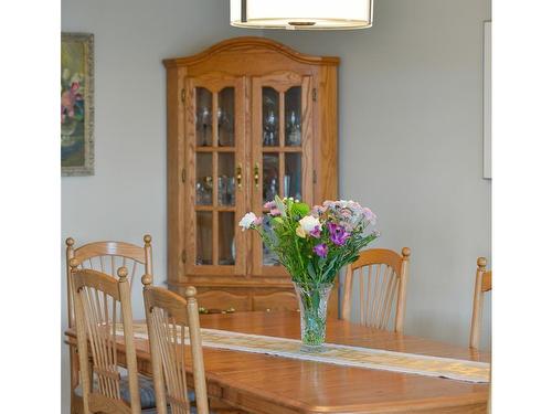
[[(62, 30), (92, 32), (96, 42), (96, 174), (62, 179), (62, 238), (140, 243), (148, 232), (155, 282), (164, 279), (161, 60), (262, 34), (230, 28), (227, 9), (225, 0), (62, 0)], [(458, 344), (467, 342), (476, 257), (490, 254), (490, 182), (481, 179), (489, 18), (489, 0), (380, 0), (370, 30), (265, 32), (342, 59), (340, 194), (379, 214), (380, 245), (412, 247), (406, 332)], [(64, 275), (61, 285), (65, 297)], [(488, 344), (489, 307), (485, 317)], [(63, 344), (62, 360), (66, 410)]]

